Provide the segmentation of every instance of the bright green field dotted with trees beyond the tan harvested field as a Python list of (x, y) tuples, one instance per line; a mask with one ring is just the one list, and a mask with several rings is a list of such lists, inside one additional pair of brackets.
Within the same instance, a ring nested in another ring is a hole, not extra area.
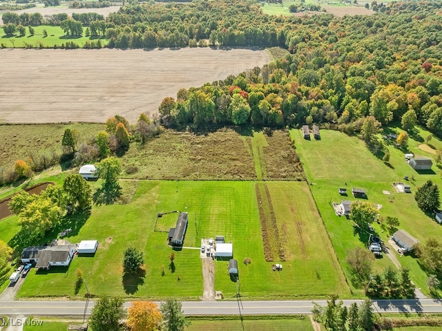
[[(86, 37), (86, 28), (84, 28), (82, 37), (71, 37), (67, 36), (59, 26), (34, 26), (35, 34), (30, 35), (29, 29), (26, 26), (26, 35), (23, 37), (19, 36), (19, 32), (16, 32), (14, 36), (6, 36), (3, 29), (0, 29), (0, 44), (4, 45), (6, 48), (23, 48), (26, 45), (31, 45), (32, 47), (39, 48), (42, 47), (54, 47), (61, 46), (61, 44), (66, 44), (66, 42), (73, 41), (80, 48), (84, 46), (87, 40), (93, 40)], [(43, 30), (48, 33), (47, 37), (44, 37)], [(102, 46), (108, 44), (107, 39), (100, 39)]]

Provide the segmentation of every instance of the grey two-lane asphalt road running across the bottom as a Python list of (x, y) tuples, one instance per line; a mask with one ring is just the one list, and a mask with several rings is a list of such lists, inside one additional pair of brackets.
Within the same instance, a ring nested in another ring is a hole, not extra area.
[[(327, 301), (313, 301), (325, 305)], [(351, 305), (358, 300), (344, 300)], [(85, 301), (0, 301), (0, 315), (7, 316), (83, 316)], [(125, 303), (127, 308), (130, 302)], [(442, 312), (442, 301), (436, 299), (375, 300), (375, 312)], [(312, 301), (185, 301), (182, 303), (186, 315), (227, 314), (310, 314)], [(86, 314), (93, 308), (90, 301)]]

